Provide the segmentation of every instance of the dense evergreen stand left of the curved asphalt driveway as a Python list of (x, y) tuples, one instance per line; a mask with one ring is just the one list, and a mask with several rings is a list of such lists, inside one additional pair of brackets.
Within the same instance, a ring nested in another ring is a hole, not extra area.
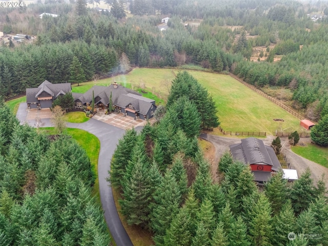
[(20, 126), (0, 101), (1, 245), (108, 245), (94, 175), (74, 139)]

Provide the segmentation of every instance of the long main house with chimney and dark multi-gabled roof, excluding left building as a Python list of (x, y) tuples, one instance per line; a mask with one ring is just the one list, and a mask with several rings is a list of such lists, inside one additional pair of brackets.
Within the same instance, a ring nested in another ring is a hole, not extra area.
[(75, 107), (90, 106), (93, 94), (94, 104), (97, 108), (109, 107), (110, 99), (112, 99), (112, 106), (116, 112), (124, 113), (136, 119), (150, 119), (156, 110), (154, 99), (143, 97), (140, 93), (116, 83), (110, 86), (93, 86), (83, 94), (72, 93)]

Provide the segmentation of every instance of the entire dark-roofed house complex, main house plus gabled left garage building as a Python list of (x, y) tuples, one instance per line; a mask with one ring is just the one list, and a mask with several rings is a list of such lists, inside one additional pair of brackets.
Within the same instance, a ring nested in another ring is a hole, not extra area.
[[(51, 84), (45, 80), (38, 88), (26, 89), (26, 103), (30, 109), (51, 108), (53, 101), (60, 95), (71, 92), (71, 84)], [(110, 100), (116, 112), (124, 113), (136, 119), (150, 119), (154, 116), (154, 99), (141, 96), (140, 93), (116, 83), (110, 86), (93, 86), (86, 93), (72, 93), (75, 107), (91, 106), (92, 97), (96, 108), (109, 107)]]

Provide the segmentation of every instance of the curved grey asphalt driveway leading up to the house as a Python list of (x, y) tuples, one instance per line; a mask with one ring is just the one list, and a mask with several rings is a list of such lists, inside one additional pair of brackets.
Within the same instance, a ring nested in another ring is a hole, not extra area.
[[(26, 104), (20, 104), (16, 117), (20, 124), (27, 123), (34, 127), (35, 120), (26, 120), (27, 107)], [(43, 127), (52, 126), (50, 119), (42, 119)], [(107, 226), (113, 236), (117, 246), (133, 246), (129, 235), (124, 229), (121, 220), (119, 219), (113, 192), (106, 178), (109, 176), (110, 162), (112, 155), (116, 149), (118, 140), (124, 135), (125, 130), (108, 125), (102, 121), (91, 118), (87, 122), (76, 124), (68, 123), (68, 127), (85, 130), (92, 133), (100, 140), (100, 152), (98, 157), (98, 179), (99, 179), (99, 193), (101, 205), (105, 211), (105, 219)], [(140, 128), (138, 127), (139, 130)]]

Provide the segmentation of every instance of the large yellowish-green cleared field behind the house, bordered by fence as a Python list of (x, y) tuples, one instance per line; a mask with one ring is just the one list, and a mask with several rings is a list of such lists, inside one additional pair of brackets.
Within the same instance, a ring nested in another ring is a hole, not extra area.
[[(98, 80), (97, 85), (109, 85), (114, 81), (133, 89), (140, 88), (142, 85), (146, 91), (153, 92), (156, 96), (160, 95), (161, 99), (166, 100), (171, 81), (177, 72), (178, 70), (175, 69), (134, 69), (127, 75)], [(301, 131), (299, 119), (229, 75), (202, 71), (189, 71), (189, 73), (212, 94), (218, 109), (221, 127), (224, 130), (267, 132), (271, 135), (274, 135), (276, 130)], [(91, 88), (94, 82), (89, 83), (89, 88)], [(85, 85), (85, 83), (80, 85)], [(74, 92), (75, 89), (77, 88), (74, 87)], [(277, 118), (284, 121), (273, 120)], [(219, 134), (216, 129), (213, 133)]]

